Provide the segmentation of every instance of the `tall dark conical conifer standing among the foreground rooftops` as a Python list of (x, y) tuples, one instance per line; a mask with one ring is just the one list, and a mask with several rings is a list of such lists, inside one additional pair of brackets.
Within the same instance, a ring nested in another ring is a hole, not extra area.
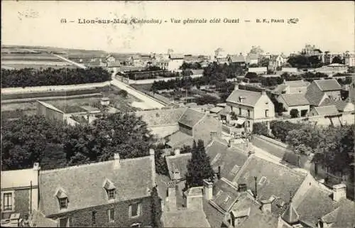
[(202, 186), (204, 179), (214, 179), (214, 171), (209, 163), (209, 156), (204, 150), (204, 142), (199, 140), (192, 145), (192, 157), (187, 163), (186, 184), (188, 188)]

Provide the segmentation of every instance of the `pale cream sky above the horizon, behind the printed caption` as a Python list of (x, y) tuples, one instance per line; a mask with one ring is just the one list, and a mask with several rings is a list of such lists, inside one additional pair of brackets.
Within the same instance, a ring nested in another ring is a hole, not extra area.
[[(2, 1), (1, 44), (127, 53), (212, 55), (248, 53), (260, 45), (269, 53), (293, 53), (305, 44), (354, 52), (353, 1)], [(72, 23), (60, 23), (65, 18)], [(143, 18), (161, 24), (80, 24), (80, 18)], [(171, 23), (171, 18), (207, 23)], [(221, 18), (221, 23), (210, 23)], [(224, 18), (239, 23), (223, 23)], [(256, 19), (285, 23), (256, 23)], [(287, 23), (298, 18), (298, 23)], [(244, 22), (249, 20), (250, 22)]]

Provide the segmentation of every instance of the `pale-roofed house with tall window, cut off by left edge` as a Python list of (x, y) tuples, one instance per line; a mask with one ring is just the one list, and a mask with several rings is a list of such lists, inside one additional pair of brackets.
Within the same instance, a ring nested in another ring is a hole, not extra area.
[(38, 209), (39, 170), (35, 163), (33, 168), (1, 171), (1, 226), (20, 224), (20, 219), (27, 220)]

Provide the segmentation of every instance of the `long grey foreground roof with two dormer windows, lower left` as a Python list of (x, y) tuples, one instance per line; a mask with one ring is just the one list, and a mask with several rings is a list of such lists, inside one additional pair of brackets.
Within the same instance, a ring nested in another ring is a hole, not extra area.
[(148, 197), (153, 187), (152, 158), (122, 159), (120, 167), (114, 169), (114, 161), (104, 161), (89, 165), (45, 170), (40, 173), (40, 210), (48, 215), (61, 213), (58, 199), (59, 188), (67, 194), (67, 210), (108, 204), (103, 185), (105, 180), (116, 186), (115, 202)]

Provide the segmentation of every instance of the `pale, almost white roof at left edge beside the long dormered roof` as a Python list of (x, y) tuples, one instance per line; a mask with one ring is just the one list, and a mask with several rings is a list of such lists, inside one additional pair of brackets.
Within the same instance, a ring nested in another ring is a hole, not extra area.
[(1, 190), (4, 188), (21, 188), (38, 185), (38, 171), (32, 168), (1, 171)]

